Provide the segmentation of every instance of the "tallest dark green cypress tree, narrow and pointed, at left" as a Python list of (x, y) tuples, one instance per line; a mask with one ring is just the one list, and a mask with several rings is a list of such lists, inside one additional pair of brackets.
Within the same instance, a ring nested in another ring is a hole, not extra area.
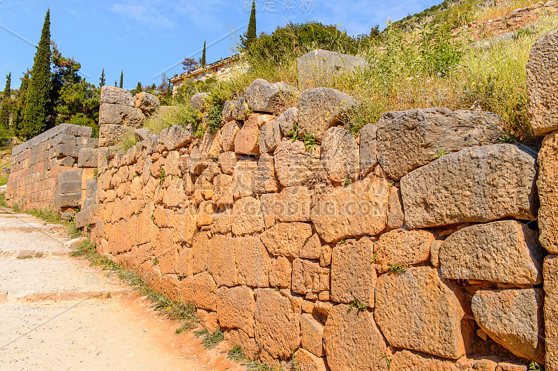
[(50, 10), (45, 15), (26, 100), (23, 134), (29, 139), (47, 128), (47, 105), (50, 100)]

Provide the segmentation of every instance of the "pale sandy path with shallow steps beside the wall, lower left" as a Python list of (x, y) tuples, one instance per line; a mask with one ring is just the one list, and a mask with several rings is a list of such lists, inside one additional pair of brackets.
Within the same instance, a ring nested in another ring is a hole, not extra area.
[(243, 370), (227, 345), (176, 335), (176, 321), (70, 257), (66, 240), (59, 225), (0, 209), (1, 370)]

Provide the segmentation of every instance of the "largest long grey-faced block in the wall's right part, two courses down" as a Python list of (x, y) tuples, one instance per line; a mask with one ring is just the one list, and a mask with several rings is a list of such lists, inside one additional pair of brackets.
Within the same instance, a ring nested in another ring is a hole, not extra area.
[(401, 179), (409, 228), (500, 218), (534, 220), (536, 153), (513, 144), (462, 149)]

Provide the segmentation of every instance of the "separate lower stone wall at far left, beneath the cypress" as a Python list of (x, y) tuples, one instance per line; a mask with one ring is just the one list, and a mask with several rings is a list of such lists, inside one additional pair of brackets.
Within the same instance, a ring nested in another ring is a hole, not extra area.
[(22, 209), (80, 208), (82, 172), (76, 169), (80, 149), (97, 145), (91, 128), (62, 123), (16, 146), (6, 201)]

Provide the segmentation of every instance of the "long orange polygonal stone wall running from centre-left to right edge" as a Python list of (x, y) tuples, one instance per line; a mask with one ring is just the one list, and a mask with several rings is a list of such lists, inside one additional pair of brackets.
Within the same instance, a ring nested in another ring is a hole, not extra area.
[(128, 112), (131, 95), (111, 88), (76, 223), (248, 358), (556, 371), (557, 34), (527, 66), (541, 149), (501, 143), (495, 114), (442, 107), (386, 112), (354, 137), (339, 121), (354, 98), (308, 89), (284, 107), (295, 89), (257, 79), (215, 135), (172, 126), (124, 152), (111, 145), (135, 124), (103, 105)]

